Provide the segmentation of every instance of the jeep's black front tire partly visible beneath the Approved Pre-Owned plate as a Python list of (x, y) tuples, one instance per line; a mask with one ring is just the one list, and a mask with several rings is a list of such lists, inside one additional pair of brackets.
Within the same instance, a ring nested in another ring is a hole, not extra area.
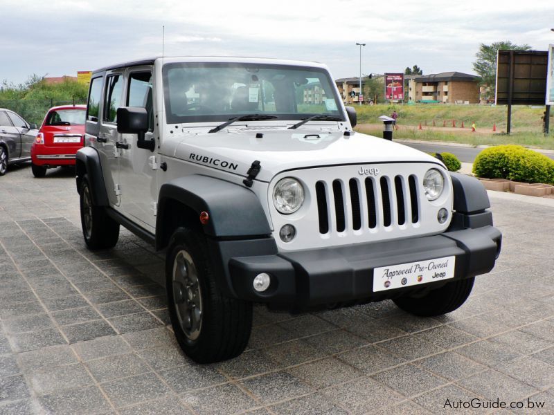
[(421, 297), (400, 297), (393, 301), (406, 313), (413, 315), (421, 317), (443, 315), (465, 303), (472, 292), (474, 280), (475, 277), (456, 279)]

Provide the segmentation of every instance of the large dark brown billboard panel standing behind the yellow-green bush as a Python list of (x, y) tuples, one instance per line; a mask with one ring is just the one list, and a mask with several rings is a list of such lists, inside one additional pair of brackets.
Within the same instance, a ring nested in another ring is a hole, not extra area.
[(499, 50), (497, 104), (544, 105), (548, 52)]

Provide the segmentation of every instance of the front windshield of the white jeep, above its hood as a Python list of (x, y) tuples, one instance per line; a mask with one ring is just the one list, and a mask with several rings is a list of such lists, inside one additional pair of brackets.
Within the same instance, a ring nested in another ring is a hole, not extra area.
[(183, 63), (163, 66), (166, 118), (226, 121), (245, 114), (302, 120), (316, 115), (344, 120), (326, 71), (303, 66)]

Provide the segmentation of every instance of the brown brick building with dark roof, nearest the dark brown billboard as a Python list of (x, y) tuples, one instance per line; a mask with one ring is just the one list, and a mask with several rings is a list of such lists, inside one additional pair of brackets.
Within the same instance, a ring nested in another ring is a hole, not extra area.
[(408, 97), (414, 102), (444, 104), (479, 103), (481, 77), (461, 72), (420, 75), (408, 82)]

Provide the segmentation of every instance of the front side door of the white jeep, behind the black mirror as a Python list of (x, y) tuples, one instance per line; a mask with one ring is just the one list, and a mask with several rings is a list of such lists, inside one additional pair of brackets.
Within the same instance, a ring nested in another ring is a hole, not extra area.
[[(154, 108), (152, 68), (150, 66), (129, 69), (127, 73), (125, 107), (142, 107), (148, 112), (149, 127), (146, 140), (154, 139)], [(139, 149), (136, 134), (120, 134), (119, 183), (121, 208), (126, 216), (139, 221), (143, 228), (154, 232), (156, 226), (157, 151)]]

